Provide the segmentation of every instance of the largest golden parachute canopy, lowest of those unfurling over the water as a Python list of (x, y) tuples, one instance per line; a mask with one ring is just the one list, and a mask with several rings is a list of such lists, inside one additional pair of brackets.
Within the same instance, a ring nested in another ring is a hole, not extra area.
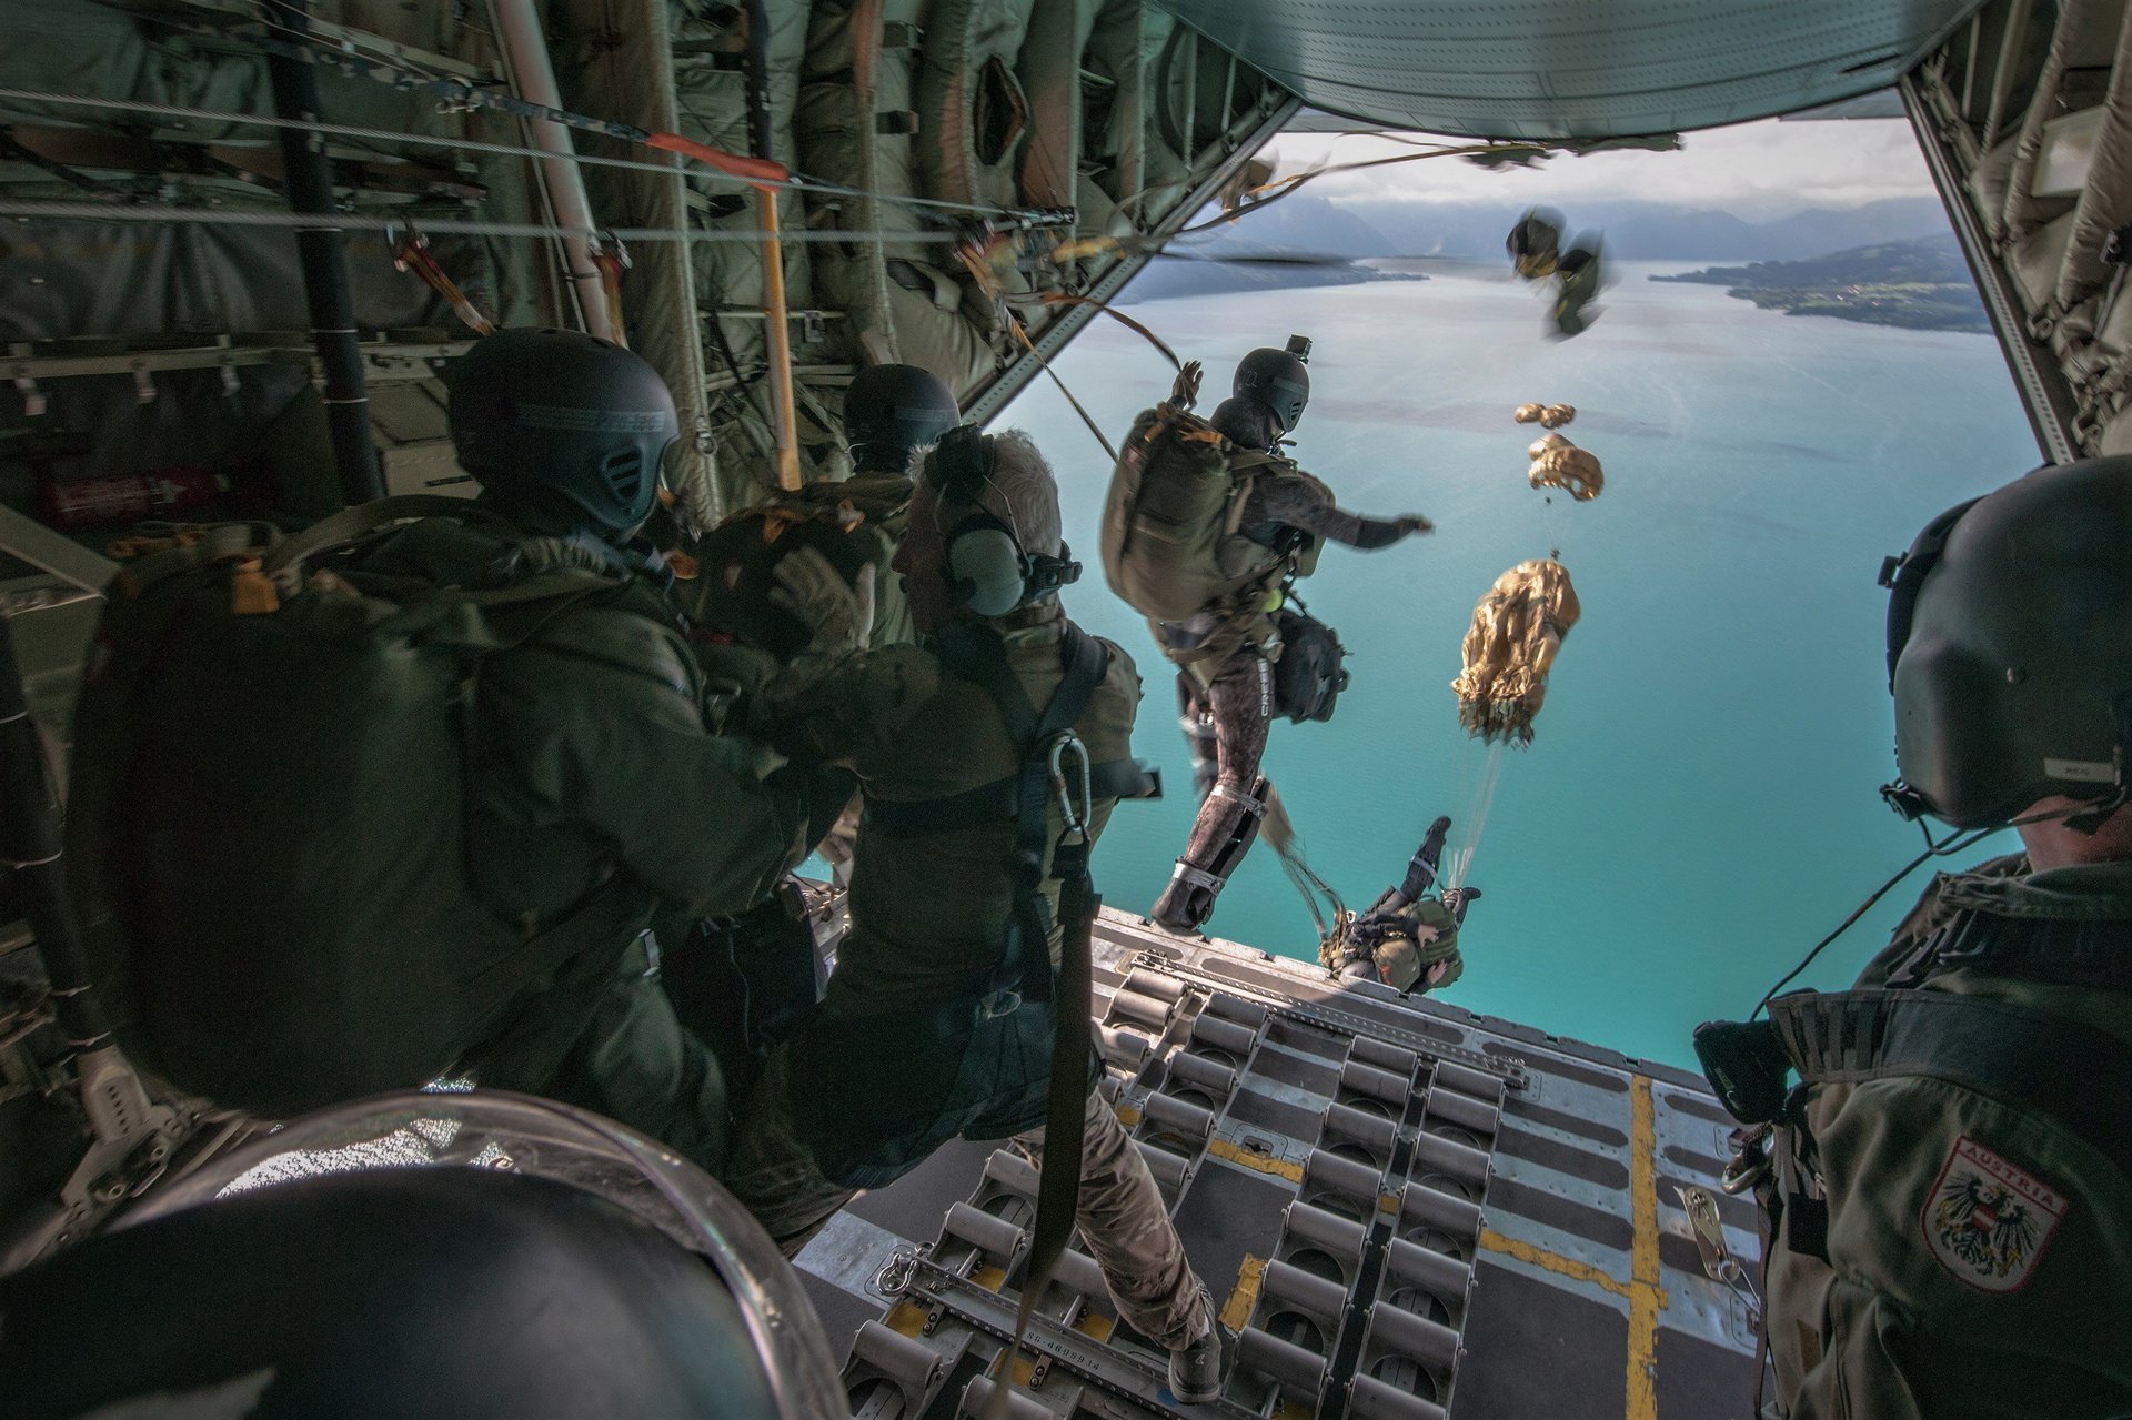
[(1533, 716), (1548, 697), (1548, 667), (1584, 608), (1556, 561), (1518, 563), (1473, 608), (1465, 672), (1452, 680), (1458, 723), (1482, 740), (1531, 744)]

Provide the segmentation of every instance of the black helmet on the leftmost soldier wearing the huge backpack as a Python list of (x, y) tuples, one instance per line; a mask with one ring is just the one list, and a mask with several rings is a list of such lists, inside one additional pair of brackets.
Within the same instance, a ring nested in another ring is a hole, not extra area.
[(503, 503), (635, 531), (680, 420), (642, 356), (578, 330), (497, 330), (450, 369), (458, 465)]

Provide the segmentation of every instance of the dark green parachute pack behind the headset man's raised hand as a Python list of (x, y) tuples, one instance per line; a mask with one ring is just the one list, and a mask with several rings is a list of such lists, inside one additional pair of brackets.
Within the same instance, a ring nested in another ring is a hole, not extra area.
[(674, 588), (689, 620), (789, 661), (808, 644), (808, 627), (772, 606), (772, 574), (797, 548), (814, 548), (846, 582), (874, 565), (874, 644), (908, 642), (910, 612), (889, 576), (889, 559), (910, 507), (910, 480), (861, 473), (842, 484), (808, 484), (733, 514), (687, 552), (697, 574)]

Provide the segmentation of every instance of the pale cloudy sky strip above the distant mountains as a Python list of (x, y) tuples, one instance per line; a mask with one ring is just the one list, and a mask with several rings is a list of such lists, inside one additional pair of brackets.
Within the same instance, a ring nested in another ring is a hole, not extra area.
[[(1360, 162), (1411, 151), (1390, 139), (1283, 134), (1279, 173), (1322, 162)], [(1780, 217), (1802, 207), (1859, 207), (1929, 196), (1932, 177), (1904, 119), (1765, 119), (1682, 134), (1678, 154), (1556, 156), (1537, 171), (1490, 173), (1460, 158), (1337, 173), (1311, 183), (1320, 196), (1375, 200), (1637, 198), (1716, 207), (1742, 217)]]

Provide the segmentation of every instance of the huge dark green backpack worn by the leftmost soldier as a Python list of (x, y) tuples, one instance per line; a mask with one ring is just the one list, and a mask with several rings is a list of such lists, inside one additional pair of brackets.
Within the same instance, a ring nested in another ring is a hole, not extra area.
[(68, 861), (119, 1038), (179, 1090), (286, 1117), (424, 1085), (650, 913), (618, 878), (531, 934), (478, 898), (465, 714), (484, 657), (591, 599), (663, 597), (576, 569), (469, 593), (307, 567), (424, 516), (488, 518), (384, 499), (279, 542), (207, 529), (113, 578)]

